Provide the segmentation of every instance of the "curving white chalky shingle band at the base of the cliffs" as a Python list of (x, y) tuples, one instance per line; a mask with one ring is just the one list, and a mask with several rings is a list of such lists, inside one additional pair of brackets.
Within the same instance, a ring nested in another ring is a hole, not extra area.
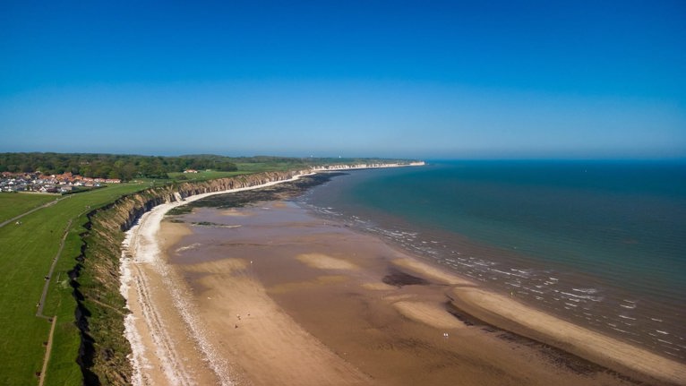
[[(199, 193), (186, 196), (185, 199), (159, 204), (144, 213), (139, 222), (126, 232), (126, 238), (122, 244), (120, 291), (126, 299), (127, 308), (139, 312), (139, 314), (128, 314), (124, 320), (124, 335), (132, 347), (134, 385), (158, 384), (163, 381), (180, 385), (198, 384), (197, 373), (193, 376), (193, 371), (188, 369), (188, 365), (176, 354), (176, 337), (167, 330), (167, 321), (156, 310), (156, 299), (150, 294), (155, 290), (154, 285), (151, 284), (153, 280), (166, 288), (168, 300), (173, 303), (183, 319), (182, 328), (189, 330), (189, 336), (194, 340), (194, 345), (199, 348), (198, 354), (202, 356), (202, 361), (210, 365), (215, 376), (215, 379), (210, 377), (210, 381), (216, 381), (221, 385), (234, 384), (228, 372), (227, 361), (216, 354), (215, 347), (204, 331), (202, 321), (195, 316), (197, 311), (186, 300), (187, 295), (184, 294), (186, 289), (178, 285), (179, 279), (173, 271), (169, 270), (160, 255), (157, 237), (160, 223), (167, 211), (211, 195), (244, 192), (292, 182), (301, 176), (311, 175), (308, 173), (285, 175), (267, 182), (261, 181), (261, 184), (248, 184), (227, 190)], [(236, 186), (236, 184), (229, 184), (229, 186)], [(150, 356), (146, 355), (146, 345), (143, 343), (146, 339), (145, 335), (148, 336), (147, 339), (154, 342), (155, 347), (158, 347), (155, 356), (164, 370), (162, 372), (164, 377), (161, 377), (159, 373), (150, 375), (150, 372), (142, 372), (144, 367), (150, 367)]]

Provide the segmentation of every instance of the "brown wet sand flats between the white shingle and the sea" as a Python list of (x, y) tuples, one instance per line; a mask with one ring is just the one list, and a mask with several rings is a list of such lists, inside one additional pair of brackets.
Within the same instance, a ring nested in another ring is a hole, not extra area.
[[(322, 223), (303, 212), (271, 202), (237, 210), (203, 209), (178, 218), (207, 219), (215, 224), (214, 231), (192, 222), (162, 223), (158, 241), (165, 245), (167, 260), (161, 263), (176, 271), (176, 286), (194, 288), (184, 293), (193, 305), (190, 312), (200, 315), (197, 324), (202, 325), (202, 335), (219, 342), (214, 348), (228, 361), (224, 367), (228, 382), (195, 368), (196, 377), (206, 377), (199, 384), (274, 384), (280, 377), (289, 380), (281, 380), (283, 384), (450, 384), (458, 376), (463, 384), (682, 383), (679, 364), (665, 366), (664, 358), (615, 350), (618, 342), (598, 340), (583, 329), (575, 336), (578, 331), (573, 325), (486, 292), (476, 283), (417, 260), (376, 237), (329, 221)], [(216, 239), (222, 228), (231, 229), (227, 232), (232, 235), (223, 242)], [(183, 244), (170, 239), (179, 229), (190, 237), (184, 238)], [(456, 306), (464, 319), (456, 318), (446, 303)], [(493, 317), (509, 311), (516, 314), (504, 314), (502, 321)], [(279, 316), (283, 313), (293, 318)], [(545, 322), (549, 328), (559, 334), (551, 336), (550, 330), (536, 324), (529, 329), (537, 335), (517, 328), (522, 321), (540, 322), (540, 318), (548, 318)], [(469, 322), (475, 320), (479, 321), (476, 325)], [(234, 322), (236, 330), (227, 328)], [(185, 325), (187, 329), (187, 322)], [(561, 347), (573, 355), (550, 353), (545, 344), (508, 338), (503, 330)], [(442, 333), (446, 334), (443, 339), (449, 335), (450, 339), (436, 340)], [(312, 335), (316, 341), (280, 338), (290, 334)], [(642, 367), (603, 362), (579, 351), (584, 346), (570, 340), (588, 337), (591, 340), (580, 343), (594, 347), (595, 354), (642, 361)], [(223, 346), (222, 341), (230, 342), (230, 347)], [(297, 352), (315, 350), (319, 357), (329, 359), (323, 363), (294, 360), (290, 352), (285, 354), (284, 347), (296, 347)], [(189, 355), (187, 347), (179, 349), (184, 352), (181, 356)], [(512, 350), (519, 354), (512, 356)], [(354, 367), (340, 367), (346, 363)], [(427, 372), (427, 365), (438, 367)], [(321, 373), (338, 368), (340, 375), (336, 382), (324, 377), (313, 383), (312, 374), (302, 368), (317, 368)]]

